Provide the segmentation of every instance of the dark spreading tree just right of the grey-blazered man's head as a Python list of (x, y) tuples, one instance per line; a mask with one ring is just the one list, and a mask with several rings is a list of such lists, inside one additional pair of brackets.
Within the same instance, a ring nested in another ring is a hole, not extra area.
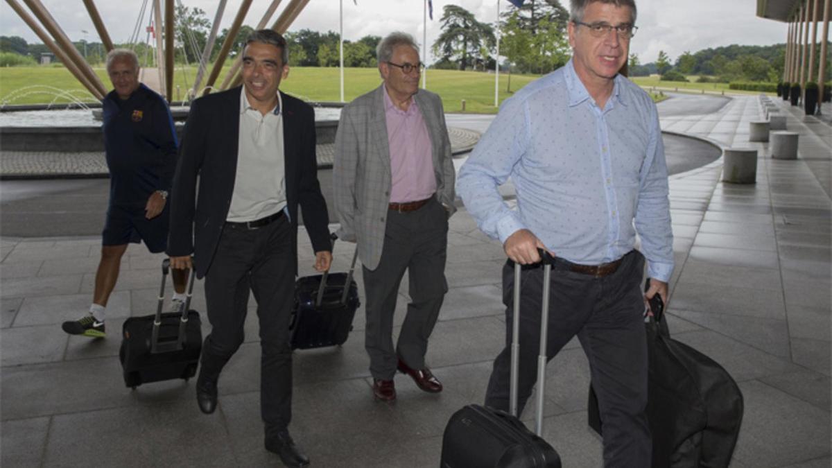
[[(482, 60), (482, 48), (492, 49), (497, 41), (490, 24), (478, 22), (473, 13), (457, 5), (443, 7), (442, 33), (433, 42), (433, 53), (458, 62), (459, 69)], [(469, 60), (469, 57), (471, 60)]]

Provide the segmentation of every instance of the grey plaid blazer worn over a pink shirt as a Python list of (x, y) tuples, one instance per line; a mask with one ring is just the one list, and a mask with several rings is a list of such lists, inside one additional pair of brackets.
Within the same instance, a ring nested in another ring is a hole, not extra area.
[[(414, 95), (414, 99), (428, 127), (433, 147), (436, 196), (453, 214), (456, 211), (453, 206), (453, 161), (442, 100), (423, 89)], [(382, 84), (344, 107), (335, 135), (334, 207), (341, 222), (336, 233), (342, 240), (358, 244), (359, 258), (370, 270), (379, 266), (384, 246), (390, 178)]]

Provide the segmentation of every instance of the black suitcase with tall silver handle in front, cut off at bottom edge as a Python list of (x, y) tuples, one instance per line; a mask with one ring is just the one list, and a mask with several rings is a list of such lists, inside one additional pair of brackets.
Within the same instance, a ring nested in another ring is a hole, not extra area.
[(535, 431), (518, 419), (518, 367), (520, 363), (520, 271), (514, 265), (514, 314), (509, 411), (468, 405), (453, 413), (442, 437), (441, 468), (560, 468), (557, 451), (541, 437), (546, 389), (546, 343), (549, 319), (549, 279), (552, 257), (543, 255), (543, 299), (540, 354), (537, 356), (537, 418)]

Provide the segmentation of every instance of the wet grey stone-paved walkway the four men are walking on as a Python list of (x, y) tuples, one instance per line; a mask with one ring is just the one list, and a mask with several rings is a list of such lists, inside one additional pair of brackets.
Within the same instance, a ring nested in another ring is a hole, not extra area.
[[(677, 263), (668, 323), (672, 336), (739, 382), (745, 419), (731, 465), (738, 468), (830, 466), (832, 127), (804, 122), (796, 107), (785, 112), (800, 132), (796, 161), (772, 160), (766, 143), (747, 142), (748, 122), (761, 117), (758, 97), (662, 119), (666, 130), (759, 150), (755, 185), (720, 182), (721, 161), (671, 177)], [(399, 375), (399, 401), (372, 400), (363, 307), (343, 347), (295, 353), (291, 429), (314, 466), (438, 466), (448, 417), (483, 401), (505, 330), (504, 254), (464, 209), (451, 218), (448, 243), (450, 291), (428, 352), (443, 393), (418, 391)], [(128, 250), (108, 338), (61, 331), (61, 321), (88, 306), (98, 251), (97, 237), (0, 240), (2, 466), (279, 465), (262, 446), (255, 314), (212, 416), (197, 409), (193, 382), (131, 391), (121, 381), (121, 322), (154, 310), (161, 257)], [(300, 273), (310, 274), (305, 236), (300, 251)], [(351, 254), (349, 244), (336, 246), (336, 269)], [(201, 282), (196, 290), (193, 306), (205, 311)], [(397, 331), (406, 298), (403, 286)], [(548, 377), (544, 436), (564, 466), (602, 466), (601, 442), (587, 429), (588, 368), (576, 342)]]

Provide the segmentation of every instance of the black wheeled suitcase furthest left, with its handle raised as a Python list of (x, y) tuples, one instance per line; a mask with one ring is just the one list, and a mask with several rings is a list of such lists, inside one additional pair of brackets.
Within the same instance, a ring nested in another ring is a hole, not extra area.
[(156, 314), (130, 317), (121, 327), (119, 358), (124, 370), (124, 384), (136, 386), (148, 382), (185, 379), (196, 374), (202, 350), (202, 323), (200, 314), (191, 311), (191, 296), (196, 281), (196, 271), (191, 268), (188, 293), (182, 313), (162, 313), (165, 301), (165, 282), (171, 261), (161, 264), (161, 288)]

